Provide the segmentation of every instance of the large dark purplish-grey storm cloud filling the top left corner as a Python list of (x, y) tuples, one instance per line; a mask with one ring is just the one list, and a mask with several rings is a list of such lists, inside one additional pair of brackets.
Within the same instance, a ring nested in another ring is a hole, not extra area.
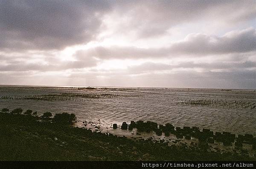
[(89, 42), (106, 1), (0, 1), (0, 48), (52, 49)]

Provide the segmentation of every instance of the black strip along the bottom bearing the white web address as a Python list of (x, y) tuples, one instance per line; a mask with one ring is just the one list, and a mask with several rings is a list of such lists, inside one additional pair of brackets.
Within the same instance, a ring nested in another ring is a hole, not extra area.
[(0, 169), (256, 168), (256, 161), (0, 161)]

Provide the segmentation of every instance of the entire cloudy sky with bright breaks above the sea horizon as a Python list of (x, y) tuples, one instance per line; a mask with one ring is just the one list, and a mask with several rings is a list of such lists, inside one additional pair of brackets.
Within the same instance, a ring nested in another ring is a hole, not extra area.
[(256, 88), (255, 0), (0, 0), (0, 84)]

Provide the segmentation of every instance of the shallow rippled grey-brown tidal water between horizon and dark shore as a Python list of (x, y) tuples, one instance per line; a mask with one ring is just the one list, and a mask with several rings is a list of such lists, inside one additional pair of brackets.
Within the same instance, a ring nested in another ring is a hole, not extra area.
[[(87, 94), (90, 97), (84, 96)], [(57, 99), (49, 99), (51, 95)], [(91, 97), (94, 95), (99, 97)], [(78, 123), (92, 121), (107, 126), (143, 120), (256, 136), (255, 105), (253, 90), (0, 86), (0, 109), (21, 107), (39, 115), (74, 113)]]

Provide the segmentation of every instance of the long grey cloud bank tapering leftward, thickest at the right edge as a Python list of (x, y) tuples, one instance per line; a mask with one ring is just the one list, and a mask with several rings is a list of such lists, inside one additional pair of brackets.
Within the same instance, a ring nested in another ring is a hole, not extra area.
[(183, 54), (194, 56), (205, 56), (209, 54), (230, 54), (255, 51), (256, 31), (247, 28), (242, 31), (229, 32), (222, 37), (209, 36), (205, 34), (189, 34), (185, 40), (173, 43), (169, 48), (136, 48), (118, 47), (109, 48), (96, 47), (86, 51), (80, 51), (80, 55), (94, 56), (100, 59), (143, 59), (159, 57), (177, 57)]

